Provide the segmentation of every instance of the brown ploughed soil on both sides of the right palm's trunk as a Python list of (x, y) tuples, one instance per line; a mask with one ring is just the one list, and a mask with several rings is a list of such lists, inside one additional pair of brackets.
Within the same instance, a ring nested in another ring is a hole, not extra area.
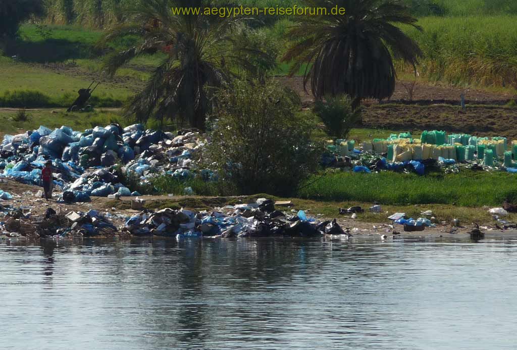
[[(296, 90), (306, 108), (313, 105), (310, 86), (309, 93), (305, 92), (302, 77), (277, 79)], [(414, 100), (410, 102), (404, 84), (407, 82), (397, 82), (389, 101), (363, 101), (363, 121), (359, 127), (400, 131), (437, 129), (517, 140), (517, 109), (504, 106), (515, 98), (510, 93), (420, 83), (415, 88)], [(465, 95), (465, 110), (460, 107), (461, 94)]]

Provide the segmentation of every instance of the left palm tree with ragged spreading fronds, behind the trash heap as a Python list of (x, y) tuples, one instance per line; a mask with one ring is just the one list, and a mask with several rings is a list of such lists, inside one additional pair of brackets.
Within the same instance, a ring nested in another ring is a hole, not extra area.
[[(233, 64), (246, 56), (236, 53), (233, 29), (239, 19), (173, 14), (172, 8), (215, 6), (211, 0), (143, 0), (128, 14), (132, 23), (112, 29), (104, 42), (124, 35), (140, 38), (135, 47), (109, 57), (107, 70), (116, 70), (136, 56), (164, 52), (145, 88), (130, 102), (126, 114), (145, 121), (153, 116), (187, 121), (205, 129), (209, 110), (206, 87), (221, 86), (232, 76)], [(217, 6), (229, 6), (221, 1)], [(242, 49), (242, 43), (238, 43)], [(250, 49), (250, 51), (253, 51)]]

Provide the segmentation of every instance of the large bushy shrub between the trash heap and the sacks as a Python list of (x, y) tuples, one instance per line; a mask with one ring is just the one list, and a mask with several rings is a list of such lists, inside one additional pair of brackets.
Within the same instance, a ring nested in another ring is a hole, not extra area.
[(276, 82), (237, 81), (216, 92), (208, 166), (242, 194), (295, 193), (317, 168), (313, 121), (295, 114), (299, 97)]

